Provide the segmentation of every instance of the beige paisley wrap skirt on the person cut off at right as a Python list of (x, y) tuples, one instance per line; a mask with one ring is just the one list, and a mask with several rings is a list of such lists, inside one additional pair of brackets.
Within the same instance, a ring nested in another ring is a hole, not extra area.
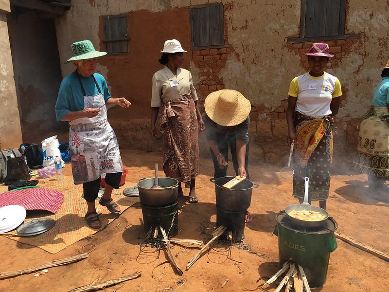
[(354, 168), (360, 173), (389, 179), (389, 111), (372, 107), (359, 130)]

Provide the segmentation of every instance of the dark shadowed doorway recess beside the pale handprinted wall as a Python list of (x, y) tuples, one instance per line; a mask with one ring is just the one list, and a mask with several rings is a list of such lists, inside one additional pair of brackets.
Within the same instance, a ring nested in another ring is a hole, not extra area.
[(8, 15), (23, 141), (40, 143), (68, 128), (56, 123), (54, 105), (61, 68), (53, 18), (15, 8)]

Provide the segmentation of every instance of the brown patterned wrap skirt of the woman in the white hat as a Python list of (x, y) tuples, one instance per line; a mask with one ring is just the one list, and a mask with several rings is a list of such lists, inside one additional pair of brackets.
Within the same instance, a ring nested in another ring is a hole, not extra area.
[(160, 130), (166, 177), (179, 182), (194, 179), (198, 175), (198, 122), (190, 95), (164, 103)]

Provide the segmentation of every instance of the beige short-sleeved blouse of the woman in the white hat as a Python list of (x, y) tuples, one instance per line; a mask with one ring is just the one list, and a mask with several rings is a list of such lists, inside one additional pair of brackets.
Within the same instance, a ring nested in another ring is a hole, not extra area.
[(193, 86), (192, 74), (182, 68), (177, 68), (175, 76), (169, 68), (157, 71), (153, 76), (151, 107), (161, 107), (167, 100), (175, 100), (184, 94), (191, 94), (194, 101), (198, 100)]

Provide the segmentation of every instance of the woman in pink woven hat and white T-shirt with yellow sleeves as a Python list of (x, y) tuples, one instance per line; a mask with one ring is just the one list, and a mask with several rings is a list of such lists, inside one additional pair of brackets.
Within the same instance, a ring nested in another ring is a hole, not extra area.
[(325, 43), (312, 44), (308, 55), (310, 71), (293, 78), (289, 87), (289, 146), (294, 143), (293, 196), (302, 202), (304, 178), (309, 178), (309, 201), (326, 208), (332, 164), (332, 128), (339, 110), (342, 90), (339, 79), (324, 70), (330, 57)]

